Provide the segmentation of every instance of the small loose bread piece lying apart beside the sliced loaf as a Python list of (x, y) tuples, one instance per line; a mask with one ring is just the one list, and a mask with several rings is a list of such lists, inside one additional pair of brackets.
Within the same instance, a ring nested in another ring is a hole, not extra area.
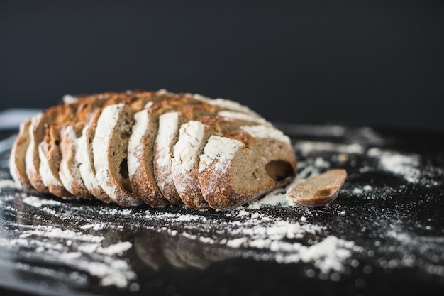
[(304, 206), (330, 204), (338, 197), (346, 177), (347, 172), (340, 169), (328, 170), (320, 175), (309, 177), (299, 185), (289, 188), (287, 202)]

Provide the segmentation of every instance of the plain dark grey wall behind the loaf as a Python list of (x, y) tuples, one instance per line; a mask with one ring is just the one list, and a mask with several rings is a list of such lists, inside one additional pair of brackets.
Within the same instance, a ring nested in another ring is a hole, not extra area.
[(444, 131), (443, 40), (444, 1), (0, 1), (0, 110), (166, 88)]

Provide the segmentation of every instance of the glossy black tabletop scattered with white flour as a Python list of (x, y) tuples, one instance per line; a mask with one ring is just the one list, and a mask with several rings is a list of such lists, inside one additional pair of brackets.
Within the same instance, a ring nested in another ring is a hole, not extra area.
[(296, 182), (348, 179), (326, 207), (291, 207), (286, 188), (230, 212), (26, 194), (0, 141), (0, 285), (52, 295), (440, 295), (444, 138), (343, 126), (279, 126)]

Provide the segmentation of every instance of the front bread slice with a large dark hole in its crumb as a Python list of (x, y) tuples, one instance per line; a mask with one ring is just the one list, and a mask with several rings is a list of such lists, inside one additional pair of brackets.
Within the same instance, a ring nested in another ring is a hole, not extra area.
[(250, 202), (295, 175), (290, 140), (272, 126), (241, 126), (212, 135), (199, 160), (202, 195), (216, 210)]

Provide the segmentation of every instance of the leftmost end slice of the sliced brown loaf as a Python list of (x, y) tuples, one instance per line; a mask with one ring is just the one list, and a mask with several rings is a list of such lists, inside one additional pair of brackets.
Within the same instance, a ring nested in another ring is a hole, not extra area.
[(31, 190), (28, 175), (26, 175), (26, 149), (29, 146), (30, 119), (20, 124), (18, 136), (11, 148), (11, 156), (9, 157), (9, 168), (13, 180), (20, 183), (24, 190)]

